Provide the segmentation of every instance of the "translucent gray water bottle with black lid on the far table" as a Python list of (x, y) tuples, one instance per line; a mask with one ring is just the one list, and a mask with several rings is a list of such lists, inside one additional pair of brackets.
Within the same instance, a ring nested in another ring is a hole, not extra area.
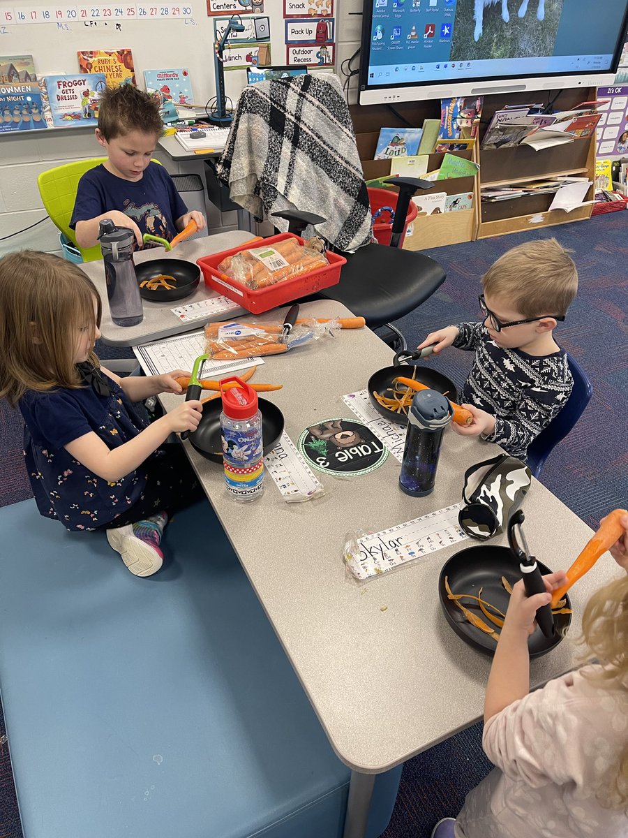
[(144, 309), (133, 264), (135, 235), (126, 227), (116, 227), (111, 218), (104, 218), (98, 238), (105, 261), (111, 319), (118, 326), (136, 326), (142, 323)]

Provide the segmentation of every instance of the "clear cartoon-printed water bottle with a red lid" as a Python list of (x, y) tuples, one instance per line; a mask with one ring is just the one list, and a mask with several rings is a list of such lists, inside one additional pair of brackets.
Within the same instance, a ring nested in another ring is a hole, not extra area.
[[(234, 381), (235, 386), (224, 390), (228, 381)], [(257, 393), (234, 376), (220, 382), (220, 394), (224, 482), (232, 498), (246, 503), (260, 498), (264, 491), (262, 418)]]

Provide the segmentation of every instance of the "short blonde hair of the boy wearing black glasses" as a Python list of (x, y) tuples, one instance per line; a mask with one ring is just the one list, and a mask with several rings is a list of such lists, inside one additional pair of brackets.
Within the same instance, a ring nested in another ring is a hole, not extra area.
[(578, 272), (556, 239), (527, 241), (504, 253), (482, 277), (482, 288), (524, 318), (567, 313), (578, 291)]

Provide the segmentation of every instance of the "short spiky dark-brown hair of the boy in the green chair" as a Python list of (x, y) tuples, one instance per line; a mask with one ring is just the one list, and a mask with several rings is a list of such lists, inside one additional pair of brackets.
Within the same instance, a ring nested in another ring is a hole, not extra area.
[(161, 137), (162, 117), (159, 102), (135, 85), (107, 87), (98, 101), (98, 128), (107, 142), (141, 131)]

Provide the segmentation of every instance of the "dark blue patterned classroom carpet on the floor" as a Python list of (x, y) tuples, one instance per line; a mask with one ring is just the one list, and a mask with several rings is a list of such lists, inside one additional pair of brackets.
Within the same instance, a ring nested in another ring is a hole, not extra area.
[[(609, 510), (628, 503), (627, 234), (628, 212), (623, 211), (564, 226), (426, 249), (425, 253), (445, 266), (447, 280), (423, 306), (397, 323), (409, 345), (415, 346), (435, 328), (476, 319), (481, 275), (502, 253), (523, 241), (554, 236), (574, 251), (578, 297), (556, 336), (584, 366), (594, 395), (574, 431), (548, 458), (541, 481), (591, 526)], [(130, 355), (130, 350), (105, 345), (98, 351), (103, 359)], [(449, 349), (431, 363), (461, 385), (471, 354)], [(1, 401), (0, 462), (0, 505), (30, 497), (22, 463), (22, 423), (19, 414)], [(0, 709), (0, 836), (22, 838), (5, 735)], [(490, 769), (481, 750), (479, 724), (410, 759), (382, 838), (428, 838), (437, 820), (457, 814), (466, 793)]]

